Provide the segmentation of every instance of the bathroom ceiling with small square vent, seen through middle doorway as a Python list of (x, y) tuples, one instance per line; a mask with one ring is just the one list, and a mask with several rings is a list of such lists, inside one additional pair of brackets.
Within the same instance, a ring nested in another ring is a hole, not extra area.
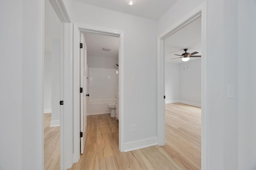
[[(84, 32), (87, 46), (87, 57), (111, 57), (118, 58), (119, 37), (101, 35), (96, 33)], [(102, 48), (111, 48), (110, 51), (104, 51)]]

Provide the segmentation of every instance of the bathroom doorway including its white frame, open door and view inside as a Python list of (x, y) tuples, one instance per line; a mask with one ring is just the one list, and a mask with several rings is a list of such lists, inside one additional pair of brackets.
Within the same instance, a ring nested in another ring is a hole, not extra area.
[[(73, 164), (73, 169), (77, 169), (79, 166), (83, 168), (84, 165), (94, 166), (94, 162), (90, 161), (90, 156), (86, 154), (94, 152), (99, 154), (98, 158), (104, 159), (104, 156), (117, 150), (123, 151), (123, 100), (122, 96), (120, 97), (123, 94), (122, 37), (122, 31), (74, 23), (73, 48), (77, 49), (74, 50), (73, 62), (74, 89), (83, 86), (82, 92), (84, 93), (84, 101), (81, 100), (80, 94), (79, 102), (79, 92), (77, 90), (73, 92), (74, 103), (78, 103), (78, 105), (74, 105), (74, 113), (85, 109), (87, 120), (85, 122), (85, 119), (82, 119), (82, 112), (80, 115), (74, 114), (74, 162), (77, 163)], [(79, 51), (81, 42), (80, 47), (86, 48), (86, 51), (81, 49)], [(81, 58), (79, 59), (81, 51), (86, 56), (82, 58), (83, 62)], [(81, 63), (84, 66), (81, 66)], [(81, 84), (82, 82), (84, 84)], [(76, 131), (81, 132), (81, 125), (85, 125), (85, 123), (86, 139), (82, 139), (77, 136)], [(82, 140), (86, 141), (82, 142)], [(83, 147), (84, 150), (81, 150)]]

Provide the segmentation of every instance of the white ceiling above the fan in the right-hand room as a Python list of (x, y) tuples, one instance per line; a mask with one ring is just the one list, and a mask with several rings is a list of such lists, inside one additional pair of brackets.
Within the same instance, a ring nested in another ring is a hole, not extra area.
[[(183, 49), (188, 49), (187, 53), (198, 52), (201, 55), (201, 18), (186, 25), (176, 33), (170, 35), (164, 41), (165, 63), (184, 63), (181, 59), (173, 59), (184, 53)], [(173, 59), (173, 60), (171, 60)], [(200, 59), (190, 58), (189, 61)]]

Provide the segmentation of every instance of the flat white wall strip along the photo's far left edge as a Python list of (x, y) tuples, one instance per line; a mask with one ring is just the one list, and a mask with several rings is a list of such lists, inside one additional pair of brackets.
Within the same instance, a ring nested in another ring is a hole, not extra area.
[(0, 1), (1, 170), (22, 169), (22, 4)]

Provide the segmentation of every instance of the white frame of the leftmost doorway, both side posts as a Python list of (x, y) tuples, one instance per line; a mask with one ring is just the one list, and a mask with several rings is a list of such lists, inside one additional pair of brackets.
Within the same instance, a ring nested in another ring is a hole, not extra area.
[[(38, 0), (38, 170), (44, 170), (44, 1)], [(63, 86), (60, 100), (64, 100), (60, 107), (60, 169), (72, 166), (73, 152), (73, 124), (72, 124), (72, 24), (62, 0), (50, 0), (54, 11), (61, 21), (61, 70)]]

